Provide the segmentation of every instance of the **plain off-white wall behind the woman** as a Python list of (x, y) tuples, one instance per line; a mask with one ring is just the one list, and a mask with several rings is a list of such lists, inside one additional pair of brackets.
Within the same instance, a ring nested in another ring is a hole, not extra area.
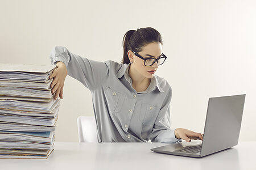
[[(203, 133), (209, 97), (246, 94), (240, 141), (256, 141), (256, 1), (7, 1), (0, 5), (3, 63), (49, 65), (56, 45), (96, 61), (121, 62), (130, 29), (153, 27), (172, 87), (171, 128)], [(67, 76), (56, 142), (77, 142), (77, 117), (92, 96)], [(217, 126), (217, 125), (216, 125)]]

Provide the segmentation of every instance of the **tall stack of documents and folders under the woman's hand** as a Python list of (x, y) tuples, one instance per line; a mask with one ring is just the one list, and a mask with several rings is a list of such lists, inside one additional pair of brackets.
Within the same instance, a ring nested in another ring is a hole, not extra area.
[(60, 100), (55, 66), (0, 64), (0, 158), (46, 159), (53, 151)]

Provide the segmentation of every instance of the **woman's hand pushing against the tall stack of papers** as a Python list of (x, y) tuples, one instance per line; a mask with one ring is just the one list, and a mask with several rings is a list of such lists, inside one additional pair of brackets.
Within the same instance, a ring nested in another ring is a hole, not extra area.
[(60, 99), (63, 99), (63, 87), (64, 87), (64, 81), (68, 74), (67, 67), (65, 64), (61, 61), (56, 63), (57, 68), (52, 71), (52, 74), (49, 76), (49, 79), (53, 78), (53, 81), (51, 83), (52, 88), (52, 94), (54, 99), (56, 100), (58, 95), (60, 95)]

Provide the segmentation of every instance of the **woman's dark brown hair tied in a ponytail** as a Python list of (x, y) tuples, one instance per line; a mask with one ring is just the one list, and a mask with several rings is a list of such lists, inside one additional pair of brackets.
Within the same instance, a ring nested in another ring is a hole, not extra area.
[(129, 30), (123, 36), (123, 59), (122, 63), (130, 63), (127, 52), (141, 52), (143, 47), (151, 42), (160, 42), (163, 45), (162, 37), (156, 29), (147, 27), (136, 30)]

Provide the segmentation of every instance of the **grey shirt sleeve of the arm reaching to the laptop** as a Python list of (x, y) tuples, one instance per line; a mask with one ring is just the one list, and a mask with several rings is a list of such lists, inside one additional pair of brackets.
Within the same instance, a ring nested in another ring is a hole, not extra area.
[(182, 141), (182, 139), (177, 139), (175, 137), (174, 130), (170, 128), (170, 102), (172, 96), (171, 87), (167, 93), (168, 95), (163, 102), (163, 107), (160, 109), (154, 127), (150, 133), (151, 142), (178, 143)]

